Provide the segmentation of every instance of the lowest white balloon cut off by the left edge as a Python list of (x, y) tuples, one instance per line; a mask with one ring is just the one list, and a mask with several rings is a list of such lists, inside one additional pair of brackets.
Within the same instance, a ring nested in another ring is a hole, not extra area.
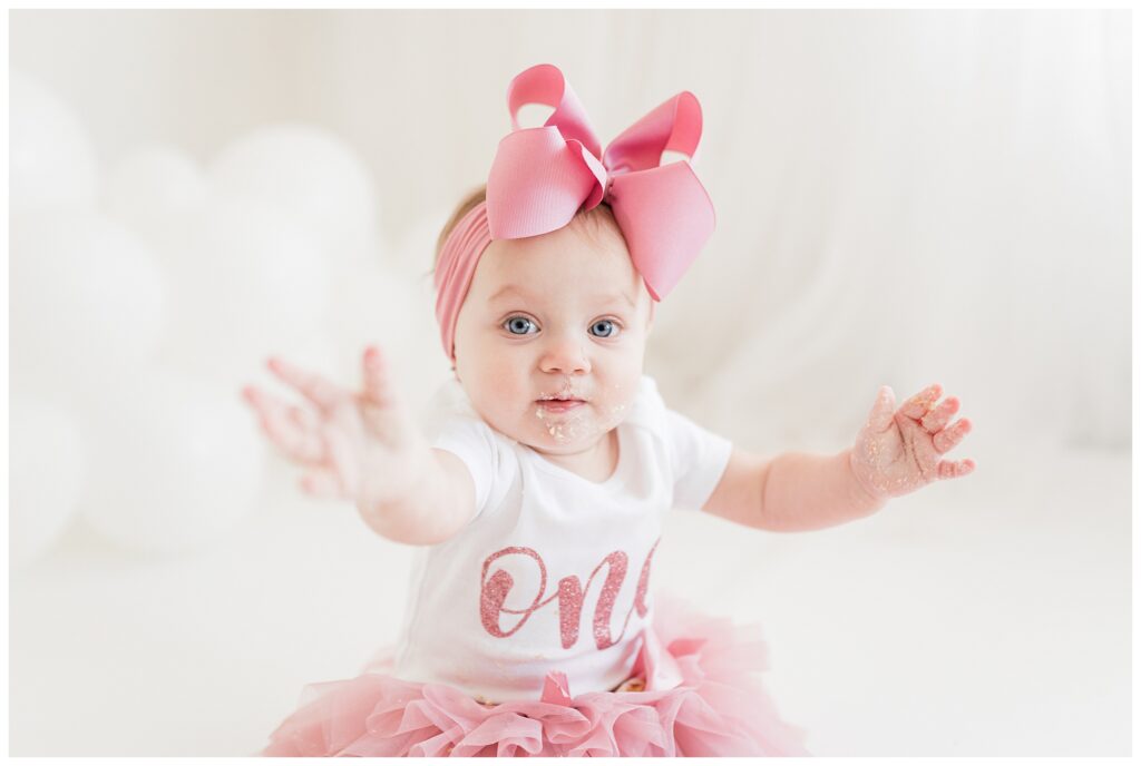
[(79, 427), (38, 397), (13, 394), (8, 422), (8, 552), (14, 567), (47, 551), (67, 528), (83, 484)]

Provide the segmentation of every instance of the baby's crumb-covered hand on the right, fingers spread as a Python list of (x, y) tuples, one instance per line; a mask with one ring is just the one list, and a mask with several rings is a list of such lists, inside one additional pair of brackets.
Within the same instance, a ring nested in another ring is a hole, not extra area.
[(856, 478), (874, 497), (898, 497), (938, 479), (965, 476), (974, 470), (970, 458), (940, 459), (971, 431), (966, 418), (946, 427), (958, 410), (958, 399), (948, 397), (932, 408), (941, 392), (938, 383), (929, 385), (896, 411), (891, 388), (880, 389), (850, 458)]

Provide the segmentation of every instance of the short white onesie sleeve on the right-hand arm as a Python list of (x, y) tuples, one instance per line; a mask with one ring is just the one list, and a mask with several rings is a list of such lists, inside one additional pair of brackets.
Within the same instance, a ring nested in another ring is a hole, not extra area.
[(701, 510), (721, 481), (733, 442), (672, 409), (665, 410), (665, 432), (673, 468), (673, 506)]

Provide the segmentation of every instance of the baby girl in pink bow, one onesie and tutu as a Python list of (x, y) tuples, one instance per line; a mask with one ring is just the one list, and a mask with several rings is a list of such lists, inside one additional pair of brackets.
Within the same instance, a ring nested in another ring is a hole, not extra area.
[[(398, 644), (313, 685), (265, 755), (804, 753), (759, 682), (755, 634), (649, 588), (662, 515), (820, 529), (970, 473), (970, 431), (931, 385), (883, 386), (839, 455), (766, 458), (669, 409), (642, 372), (655, 303), (713, 230), (688, 162), (682, 92), (606, 149), (553, 66), (508, 90), (513, 130), (437, 252), (436, 315), (454, 381), (432, 439), (375, 348), (359, 391), (272, 359), (309, 407), (245, 389), (302, 487), (355, 502), (379, 535), (422, 546)], [(526, 104), (555, 108), (520, 129)]]

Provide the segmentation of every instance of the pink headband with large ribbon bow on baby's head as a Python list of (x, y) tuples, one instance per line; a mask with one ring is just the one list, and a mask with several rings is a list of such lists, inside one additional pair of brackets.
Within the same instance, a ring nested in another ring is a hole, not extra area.
[[(689, 91), (628, 128), (605, 153), (558, 67), (540, 64), (520, 73), (508, 85), (507, 101), (511, 132), (495, 152), (487, 202), (452, 229), (436, 268), (436, 318), (453, 361), (460, 307), (479, 256), (495, 239), (561, 229), (580, 207), (606, 202), (634, 268), (661, 301), (713, 234), (713, 203), (689, 163), (661, 164), (666, 150), (693, 160), (697, 149), (702, 108)], [(516, 115), (526, 104), (544, 104), (555, 113), (542, 128), (520, 129)]]

